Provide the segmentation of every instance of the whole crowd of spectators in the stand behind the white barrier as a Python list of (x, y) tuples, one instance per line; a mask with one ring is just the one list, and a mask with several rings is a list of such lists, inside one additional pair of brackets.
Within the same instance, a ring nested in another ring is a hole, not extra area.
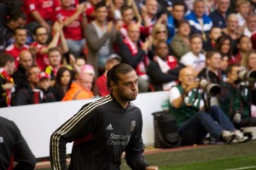
[(105, 96), (106, 73), (119, 62), (135, 68), (141, 93), (169, 91), (183, 67), (227, 82), (230, 66), (256, 67), (255, 5), (1, 0), (0, 107)]

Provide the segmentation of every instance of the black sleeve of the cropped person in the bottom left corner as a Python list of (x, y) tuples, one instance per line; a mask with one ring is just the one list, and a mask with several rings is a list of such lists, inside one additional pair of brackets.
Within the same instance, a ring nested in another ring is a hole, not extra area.
[(15, 141), (14, 161), (18, 162), (18, 164), (15, 166), (14, 170), (32, 170), (37, 163), (36, 158), (26, 144), (26, 141), (22, 137), (18, 127), (16, 134), (17, 136)]

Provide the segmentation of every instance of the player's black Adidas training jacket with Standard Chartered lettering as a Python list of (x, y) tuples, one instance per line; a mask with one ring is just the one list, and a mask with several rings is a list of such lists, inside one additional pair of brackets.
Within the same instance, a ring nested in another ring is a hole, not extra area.
[(112, 95), (84, 105), (50, 139), (54, 169), (67, 169), (66, 144), (73, 142), (69, 169), (119, 170), (121, 155), (132, 169), (145, 169), (143, 119), (137, 106), (124, 109)]

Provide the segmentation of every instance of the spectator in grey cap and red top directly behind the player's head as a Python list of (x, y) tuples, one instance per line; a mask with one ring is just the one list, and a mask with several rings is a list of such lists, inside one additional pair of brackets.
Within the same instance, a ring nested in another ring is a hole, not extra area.
[(113, 65), (117, 65), (121, 62), (121, 58), (117, 54), (109, 55), (106, 62), (106, 71), (102, 74), (101, 77), (96, 79), (96, 91), (97, 94), (104, 97), (109, 94), (107, 88), (107, 72), (113, 67)]

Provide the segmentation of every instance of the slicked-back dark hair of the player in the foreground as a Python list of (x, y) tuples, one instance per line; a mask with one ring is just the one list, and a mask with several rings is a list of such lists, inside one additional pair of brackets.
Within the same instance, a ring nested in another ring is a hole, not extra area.
[(134, 71), (131, 65), (125, 64), (125, 63), (120, 63), (118, 65), (114, 65), (112, 69), (110, 69), (107, 73), (107, 88), (109, 91), (111, 91), (111, 85), (110, 82), (119, 82), (119, 74), (127, 74), (131, 71)]

